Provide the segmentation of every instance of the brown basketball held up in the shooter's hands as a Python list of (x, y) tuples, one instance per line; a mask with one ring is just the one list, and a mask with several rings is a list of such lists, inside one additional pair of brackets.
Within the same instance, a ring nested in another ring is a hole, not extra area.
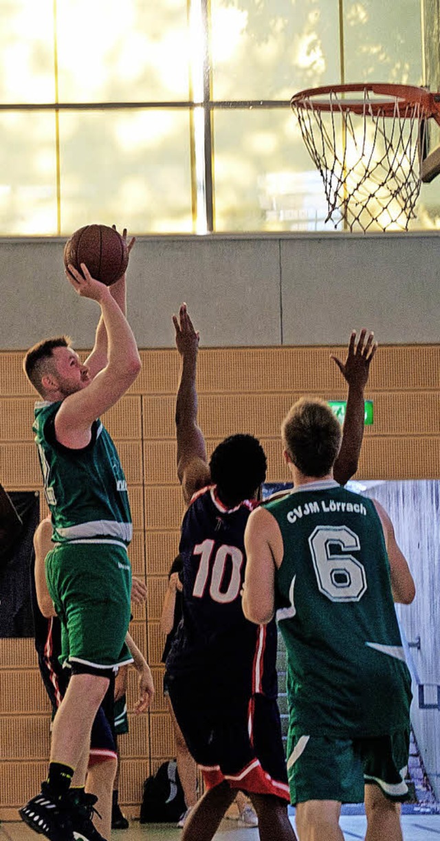
[(93, 278), (111, 286), (124, 274), (129, 262), (127, 243), (108, 225), (84, 225), (72, 234), (64, 247), (64, 265), (81, 272), (85, 263)]

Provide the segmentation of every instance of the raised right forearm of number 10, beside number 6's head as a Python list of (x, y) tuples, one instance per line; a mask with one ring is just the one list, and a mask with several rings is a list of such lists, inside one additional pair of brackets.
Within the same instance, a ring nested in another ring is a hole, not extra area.
[(346, 484), (358, 469), (364, 431), (363, 388), (348, 387), (342, 444), (333, 468), (333, 475), (339, 484)]

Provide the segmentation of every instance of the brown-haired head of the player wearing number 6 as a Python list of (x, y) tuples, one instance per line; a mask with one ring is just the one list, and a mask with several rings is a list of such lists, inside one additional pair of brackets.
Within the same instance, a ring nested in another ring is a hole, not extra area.
[(341, 446), (341, 426), (329, 405), (319, 398), (301, 398), (281, 426), (288, 461), (305, 476), (326, 476)]

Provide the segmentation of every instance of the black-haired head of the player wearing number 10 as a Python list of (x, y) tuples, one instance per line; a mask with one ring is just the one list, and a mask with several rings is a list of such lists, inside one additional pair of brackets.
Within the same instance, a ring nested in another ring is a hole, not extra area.
[(252, 435), (225, 438), (211, 456), (211, 479), (220, 499), (233, 507), (257, 494), (268, 466), (262, 445)]

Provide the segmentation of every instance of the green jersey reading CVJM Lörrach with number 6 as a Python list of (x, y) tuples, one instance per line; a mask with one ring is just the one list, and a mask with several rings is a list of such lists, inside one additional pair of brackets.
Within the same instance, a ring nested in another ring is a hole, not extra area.
[(411, 677), (373, 502), (327, 480), (265, 507), (284, 542), (275, 604), (291, 727), (334, 738), (407, 727)]

